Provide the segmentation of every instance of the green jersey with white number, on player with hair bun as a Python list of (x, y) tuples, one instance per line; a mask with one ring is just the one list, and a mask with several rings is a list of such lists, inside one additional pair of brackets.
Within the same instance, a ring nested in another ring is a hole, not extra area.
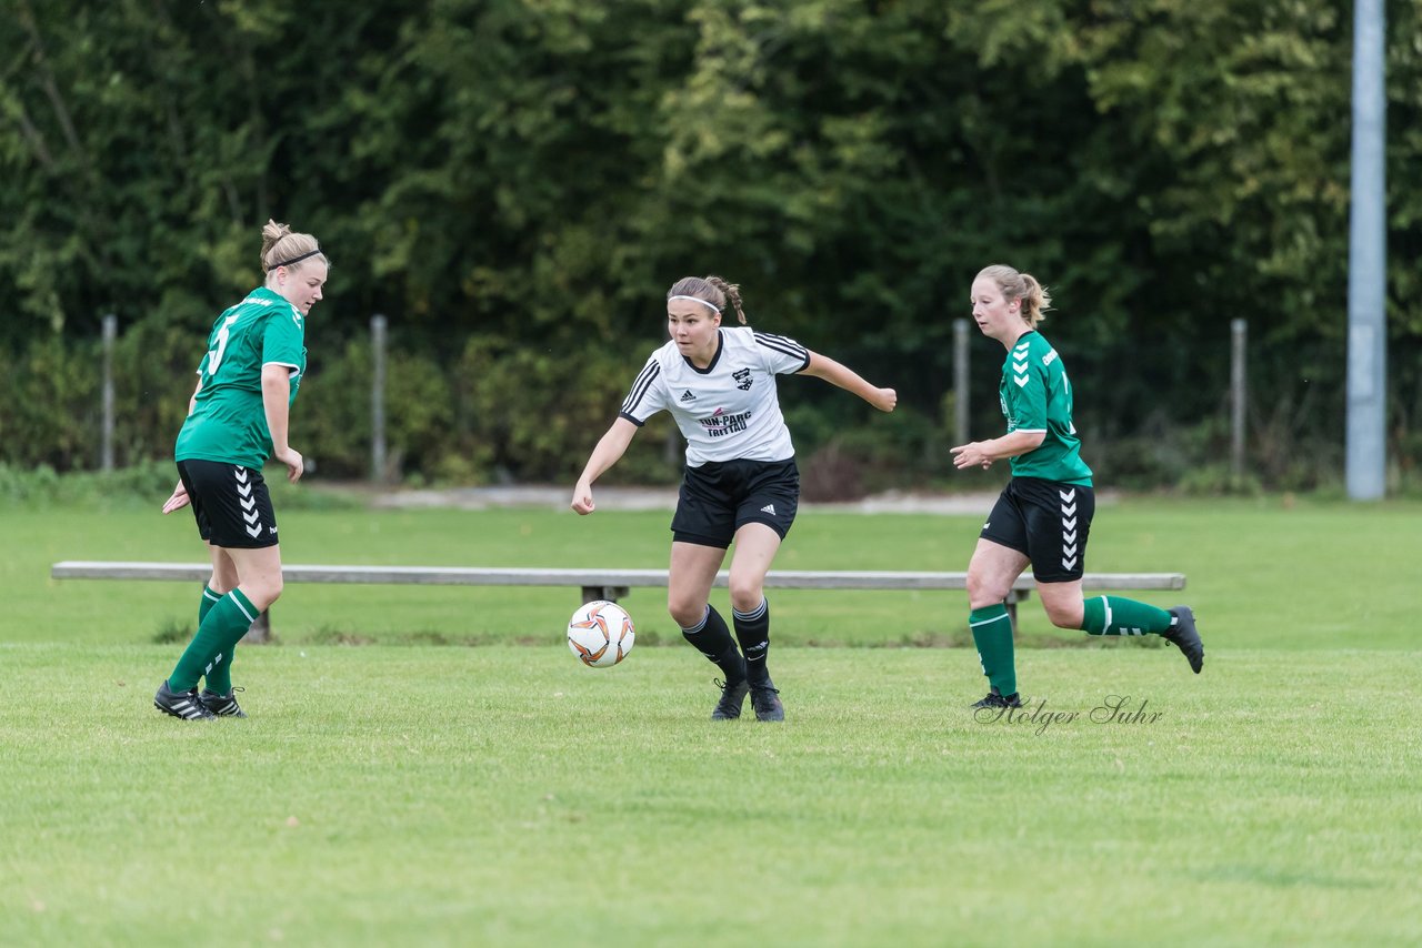
[(202, 388), (178, 432), (173, 458), (264, 465), (272, 456), (272, 432), (262, 405), (262, 367), (284, 365), (292, 377), (290, 401), (296, 401), (306, 372), (304, 338), (301, 314), (266, 287), (219, 316), (198, 365)]

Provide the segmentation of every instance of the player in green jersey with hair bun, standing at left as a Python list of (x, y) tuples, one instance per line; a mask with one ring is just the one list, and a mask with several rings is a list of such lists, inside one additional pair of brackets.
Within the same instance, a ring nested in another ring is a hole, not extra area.
[(269, 220), (262, 229), (266, 281), (218, 317), (198, 365), (173, 452), (179, 480), (164, 513), (192, 505), (212, 578), (202, 590), (198, 632), (154, 695), (154, 705), (175, 718), (246, 718), (233, 694), (232, 652), (282, 596), (282, 549), (262, 466), (274, 458), (287, 480), (301, 479), (287, 418), (306, 372), (306, 317), (321, 300), (328, 266), (316, 237)]

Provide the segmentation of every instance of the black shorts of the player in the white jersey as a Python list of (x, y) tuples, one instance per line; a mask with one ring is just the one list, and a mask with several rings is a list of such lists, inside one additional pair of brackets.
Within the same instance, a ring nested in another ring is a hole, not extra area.
[(799, 509), (799, 468), (786, 460), (708, 460), (687, 468), (671, 517), (680, 543), (727, 549), (747, 523), (764, 523), (781, 539)]

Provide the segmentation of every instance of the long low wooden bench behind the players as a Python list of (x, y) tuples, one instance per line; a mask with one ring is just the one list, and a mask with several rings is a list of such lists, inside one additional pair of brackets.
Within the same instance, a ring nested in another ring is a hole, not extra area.
[[(203, 583), (212, 576), (209, 563), (124, 563), (64, 560), (50, 576), (57, 580), (169, 580)], [(354, 583), (380, 586), (576, 586), (583, 601), (613, 600), (636, 587), (667, 586), (667, 570), (547, 570), (483, 566), (297, 566), (282, 567), (289, 583)], [(859, 570), (771, 570), (768, 588), (779, 590), (966, 590), (967, 573), (859, 571)], [(729, 573), (721, 570), (715, 584), (725, 587)], [(1086, 573), (1082, 587), (1095, 590), (1183, 590), (1183, 573)], [(1017, 604), (1037, 588), (1027, 574), (1017, 578), (1007, 597), (1007, 611), (1017, 627)], [(270, 637), (270, 615), (263, 613), (243, 641), (263, 642)]]

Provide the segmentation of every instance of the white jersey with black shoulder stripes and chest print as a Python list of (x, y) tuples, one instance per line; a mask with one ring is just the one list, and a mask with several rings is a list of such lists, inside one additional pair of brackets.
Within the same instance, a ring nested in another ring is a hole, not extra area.
[(658, 411), (670, 411), (687, 439), (688, 468), (793, 458), (775, 377), (802, 371), (809, 351), (749, 327), (718, 333), (721, 344), (707, 368), (693, 365), (671, 341), (653, 352), (620, 415), (640, 428)]

